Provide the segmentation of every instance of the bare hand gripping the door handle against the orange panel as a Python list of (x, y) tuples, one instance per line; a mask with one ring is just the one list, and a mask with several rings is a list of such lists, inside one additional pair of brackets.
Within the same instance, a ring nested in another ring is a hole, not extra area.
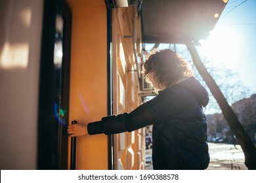
[(76, 120), (77, 124), (68, 125), (68, 135), (70, 137), (79, 137), (83, 135), (87, 135), (87, 125), (81, 124), (79, 120)]

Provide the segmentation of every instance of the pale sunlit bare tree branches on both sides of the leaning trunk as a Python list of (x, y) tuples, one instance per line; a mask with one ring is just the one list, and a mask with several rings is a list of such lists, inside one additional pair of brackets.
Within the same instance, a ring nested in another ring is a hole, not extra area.
[[(207, 107), (204, 108), (205, 113), (220, 113), (221, 108), (219, 107), (215, 97), (213, 97), (211, 90), (209, 90), (206, 82), (204, 81), (200, 73), (198, 73), (196, 65), (192, 61), (190, 52), (188, 51), (186, 46), (179, 44), (178, 46), (172, 47), (176, 47), (177, 52), (179, 52), (179, 54), (181, 54), (183, 58), (186, 58), (186, 60), (190, 63), (192, 69), (194, 70), (194, 75), (196, 76), (196, 78), (200, 80), (200, 82), (209, 92), (210, 100)], [(250, 97), (252, 92), (249, 90), (249, 88), (244, 86), (244, 84), (240, 80), (238, 72), (234, 71), (233, 69), (230, 69), (228, 66), (224, 65), (224, 63), (217, 64), (215, 61), (205, 56), (200, 56), (200, 59), (202, 60), (203, 65), (207, 69), (207, 72), (212, 76), (216, 84), (219, 86), (221, 92), (226, 98), (226, 101), (228, 101), (229, 105), (232, 105), (232, 103), (240, 101), (241, 99)]]

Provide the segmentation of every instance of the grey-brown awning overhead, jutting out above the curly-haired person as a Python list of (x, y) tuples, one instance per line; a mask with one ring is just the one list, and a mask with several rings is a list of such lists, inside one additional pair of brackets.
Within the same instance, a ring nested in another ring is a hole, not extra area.
[(142, 1), (142, 42), (177, 43), (207, 39), (226, 0)]

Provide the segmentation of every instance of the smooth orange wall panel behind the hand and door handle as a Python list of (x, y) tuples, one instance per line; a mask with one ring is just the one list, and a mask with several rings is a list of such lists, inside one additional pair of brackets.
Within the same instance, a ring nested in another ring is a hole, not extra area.
[[(72, 8), (70, 123), (79, 119), (86, 124), (107, 115), (106, 5), (104, 0), (68, 4)], [(107, 136), (77, 137), (76, 159), (76, 169), (108, 169)]]

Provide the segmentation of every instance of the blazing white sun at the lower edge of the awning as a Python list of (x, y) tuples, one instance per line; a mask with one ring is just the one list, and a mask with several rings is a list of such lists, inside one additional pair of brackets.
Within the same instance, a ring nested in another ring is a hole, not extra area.
[(239, 54), (239, 37), (234, 29), (217, 25), (207, 40), (201, 41), (200, 53), (218, 63), (232, 66)]

